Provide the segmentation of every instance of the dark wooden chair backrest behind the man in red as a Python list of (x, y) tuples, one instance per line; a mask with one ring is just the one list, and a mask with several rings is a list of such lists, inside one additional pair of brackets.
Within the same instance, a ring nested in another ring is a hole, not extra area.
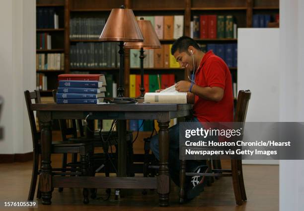
[(250, 97), (251, 97), (250, 90), (240, 90), (237, 95), (234, 121), (242, 122), (243, 123), (242, 126), (244, 126), (244, 122), (246, 120), (247, 109), (248, 109)]

